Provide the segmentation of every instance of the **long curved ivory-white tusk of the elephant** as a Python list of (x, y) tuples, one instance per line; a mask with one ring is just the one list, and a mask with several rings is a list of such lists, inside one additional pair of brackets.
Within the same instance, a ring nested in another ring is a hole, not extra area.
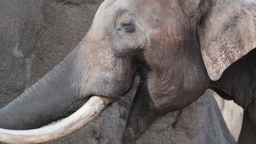
[(93, 121), (113, 100), (94, 96), (73, 115), (63, 121), (39, 129), (7, 130), (0, 129), (0, 142), (5, 143), (43, 143), (60, 139), (83, 128)]

